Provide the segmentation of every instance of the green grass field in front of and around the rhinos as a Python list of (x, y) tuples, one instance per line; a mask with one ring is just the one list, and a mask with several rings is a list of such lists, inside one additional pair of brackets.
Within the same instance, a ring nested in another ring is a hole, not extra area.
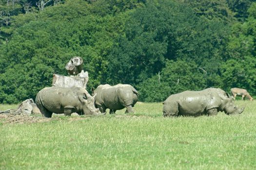
[(256, 101), (236, 104), (246, 108), (235, 116), (163, 118), (161, 103), (139, 102), (135, 114), (1, 123), (0, 168), (255, 170)]

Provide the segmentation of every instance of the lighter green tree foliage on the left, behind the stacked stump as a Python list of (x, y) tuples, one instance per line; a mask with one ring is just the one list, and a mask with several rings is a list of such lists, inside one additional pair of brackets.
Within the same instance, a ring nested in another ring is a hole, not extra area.
[[(78, 3), (87, 6), (84, 1), (78, 0)], [(64, 66), (72, 56), (83, 57), (91, 79), (89, 87), (100, 84), (108, 63), (104, 56), (109, 53), (112, 39), (122, 32), (122, 19), (127, 14), (99, 17), (88, 15), (86, 8), (77, 10), (77, 4), (67, 2), (45, 9), (37, 14), (37, 20), (29, 21), (31, 17), (28, 16), (19, 20), (21, 23), (16, 22), (17, 26), (22, 27), (16, 28), (11, 41), (2, 46), (3, 51), (6, 51), (2, 56), (9, 57), (3, 57), (1, 63), (6, 68), (12, 68), (16, 63), (23, 64), (22, 67), (16, 67), (17, 73), (11, 72), (14, 74), (13, 81), (16, 76), (20, 76), (23, 83), (12, 84), (11, 79), (6, 82), (9, 69), (1, 69), (3, 76), (0, 80), (8, 88), (0, 87), (4, 94), (0, 102), (12, 103), (35, 98), (41, 88), (51, 85), (53, 73), (67, 74)], [(65, 16), (62, 19), (56, 17), (63, 13)]]

